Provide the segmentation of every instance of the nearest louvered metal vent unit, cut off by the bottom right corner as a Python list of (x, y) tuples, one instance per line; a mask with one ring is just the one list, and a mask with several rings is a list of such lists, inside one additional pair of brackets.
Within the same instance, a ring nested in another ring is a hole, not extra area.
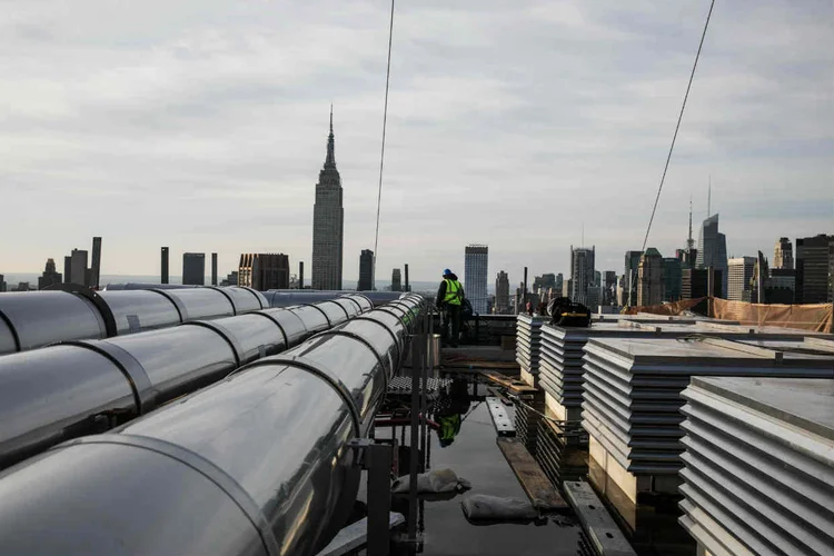
[(834, 554), (834, 380), (693, 378), (681, 524), (711, 554)]

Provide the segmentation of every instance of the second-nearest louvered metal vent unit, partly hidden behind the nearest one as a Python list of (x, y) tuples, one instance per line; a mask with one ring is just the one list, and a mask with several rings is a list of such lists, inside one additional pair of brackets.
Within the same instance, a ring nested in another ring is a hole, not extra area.
[(834, 348), (794, 340), (592, 339), (583, 427), (634, 475), (682, 467), (681, 393), (692, 376), (831, 378)]

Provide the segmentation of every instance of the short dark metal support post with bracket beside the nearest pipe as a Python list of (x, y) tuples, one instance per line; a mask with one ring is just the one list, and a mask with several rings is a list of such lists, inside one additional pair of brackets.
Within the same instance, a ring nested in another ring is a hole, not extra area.
[(391, 510), (391, 446), (369, 438), (347, 445), (356, 453), (356, 465), (368, 471), (368, 556), (388, 556)]

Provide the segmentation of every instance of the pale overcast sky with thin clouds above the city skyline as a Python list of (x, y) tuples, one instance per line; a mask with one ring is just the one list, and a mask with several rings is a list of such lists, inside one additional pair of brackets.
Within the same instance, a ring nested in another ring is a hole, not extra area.
[[(0, 274), (103, 237), (101, 272), (159, 247), (310, 268), (330, 103), (345, 278), (374, 248), (390, 4), (0, 0)], [(569, 272), (639, 249), (707, 0), (398, 0), (377, 276)], [(834, 234), (834, 3), (718, 1), (648, 245), (721, 215), (729, 255)], [(583, 234), (584, 230), (584, 234)], [(583, 239), (584, 237), (584, 239)], [(61, 264), (59, 271), (61, 270)], [(308, 271), (309, 276), (309, 271)]]

